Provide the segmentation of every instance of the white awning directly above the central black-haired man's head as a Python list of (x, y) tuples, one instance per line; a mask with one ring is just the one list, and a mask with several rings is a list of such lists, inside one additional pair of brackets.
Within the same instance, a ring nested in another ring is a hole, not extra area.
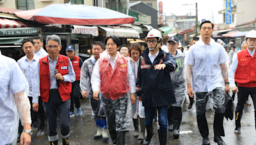
[(140, 34), (137, 31), (127, 27), (99, 26), (99, 28), (106, 31), (106, 37), (116, 36), (118, 38), (140, 38)]

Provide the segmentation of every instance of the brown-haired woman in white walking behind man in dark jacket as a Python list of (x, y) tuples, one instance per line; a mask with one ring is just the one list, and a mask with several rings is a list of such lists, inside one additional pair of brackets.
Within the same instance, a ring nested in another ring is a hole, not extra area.
[[(132, 43), (129, 48), (129, 60), (131, 62), (132, 71), (134, 73), (135, 82), (137, 79), (138, 65), (140, 62), (140, 55), (142, 53), (141, 46), (139, 43)], [(143, 141), (145, 139), (145, 113), (144, 107), (142, 106), (142, 101), (138, 101), (137, 95), (135, 93), (136, 102), (132, 105), (132, 120), (134, 123), (134, 137), (138, 137), (138, 140)], [(140, 130), (139, 130), (139, 120), (140, 120)], [(140, 132), (140, 134), (139, 134)]]

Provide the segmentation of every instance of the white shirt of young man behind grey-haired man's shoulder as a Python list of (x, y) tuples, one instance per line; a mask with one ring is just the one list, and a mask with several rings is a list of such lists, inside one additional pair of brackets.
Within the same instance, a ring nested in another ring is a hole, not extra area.
[(25, 76), (28, 80), (28, 84), (29, 84), (28, 96), (29, 97), (32, 97), (33, 79), (35, 76), (35, 71), (36, 71), (36, 67), (38, 65), (39, 59), (40, 59), (40, 57), (34, 55), (33, 59), (30, 62), (26, 55), (18, 60), (20, 69), (25, 74)]

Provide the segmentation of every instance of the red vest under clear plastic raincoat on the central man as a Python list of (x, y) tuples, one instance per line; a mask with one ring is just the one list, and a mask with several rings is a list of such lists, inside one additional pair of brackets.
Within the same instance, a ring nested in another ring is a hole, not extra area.
[(118, 55), (114, 70), (108, 55), (99, 59), (100, 92), (108, 99), (115, 100), (129, 92), (127, 80), (128, 59)]

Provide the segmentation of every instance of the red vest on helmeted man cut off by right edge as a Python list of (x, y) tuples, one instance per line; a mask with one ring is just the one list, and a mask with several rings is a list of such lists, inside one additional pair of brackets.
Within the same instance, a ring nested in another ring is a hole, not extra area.
[(251, 57), (247, 49), (237, 53), (235, 81), (238, 86), (256, 87), (256, 53)]

